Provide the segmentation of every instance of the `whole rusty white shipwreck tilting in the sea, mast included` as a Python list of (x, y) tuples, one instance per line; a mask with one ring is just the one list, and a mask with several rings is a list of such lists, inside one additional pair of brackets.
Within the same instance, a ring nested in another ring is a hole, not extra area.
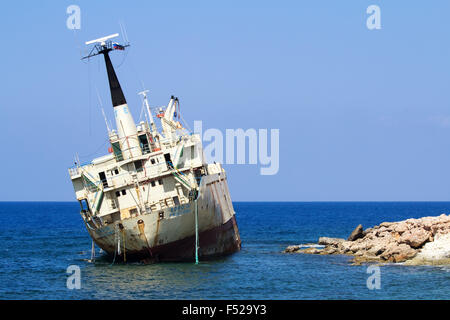
[(177, 121), (172, 96), (155, 115), (140, 92), (148, 121), (135, 124), (109, 52), (112, 35), (88, 56), (103, 55), (116, 129), (110, 153), (69, 169), (81, 216), (93, 241), (115, 259), (180, 261), (238, 251), (241, 246), (225, 170), (204, 161), (201, 138)]

